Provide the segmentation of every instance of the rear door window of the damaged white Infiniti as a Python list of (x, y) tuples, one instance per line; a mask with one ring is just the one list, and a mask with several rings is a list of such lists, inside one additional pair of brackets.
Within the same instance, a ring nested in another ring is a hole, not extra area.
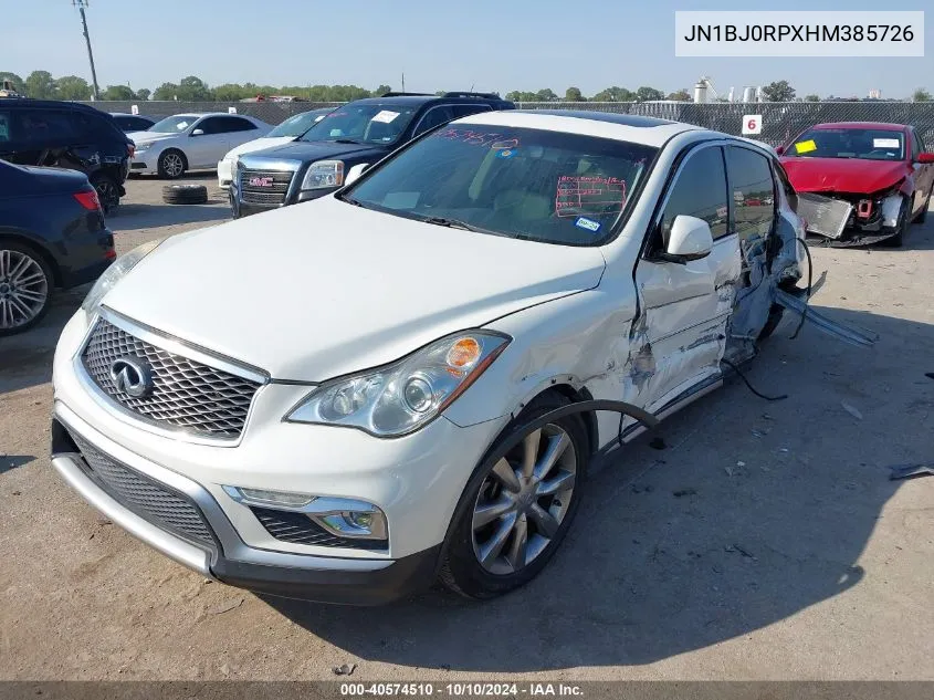
[(775, 181), (765, 156), (728, 146), (726, 167), (733, 190), (733, 229), (745, 241), (766, 237), (775, 223)]

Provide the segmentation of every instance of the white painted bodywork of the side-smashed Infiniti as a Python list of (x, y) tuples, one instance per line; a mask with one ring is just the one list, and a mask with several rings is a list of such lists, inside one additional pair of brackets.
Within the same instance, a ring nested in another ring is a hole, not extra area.
[[(83, 311), (65, 326), (56, 349), (57, 405), (78, 416), (88, 432), (139, 456), (139, 470), (156, 474), (165, 468), (197, 481), (246, 545), (363, 561), (397, 560), (441, 543), (482, 456), (545, 389), (665, 415), (718, 386), (739, 280), (756, 260), (742, 260), (735, 234), (683, 265), (640, 255), (680, 153), (720, 136), (682, 124), (644, 128), (520, 112), (463, 122), (618, 138), (662, 150), (625, 228), (600, 248), (439, 227), (333, 196), (170, 238), (103, 305), (269, 373), (272, 382), (253, 399), (237, 447), (157, 433), (92, 395), (76, 362), (93, 323)], [(796, 215), (783, 217), (786, 228), (802, 232)], [(801, 252), (790, 248), (783, 264), (800, 262)], [(756, 289), (744, 290), (757, 304), (745, 320), (753, 331), (772, 303), (769, 286), (759, 286), (758, 299)], [(505, 333), (512, 342), (442, 416), (416, 432), (386, 439), (284, 420), (313, 383), (393, 362), (473, 327)], [(601, 448), (639, 429), (618, 414), (599, 412), (595, 421)], [(390, 548), (335, 551), (274, 540), (223, 485), (366, 500), (386, 513)]]

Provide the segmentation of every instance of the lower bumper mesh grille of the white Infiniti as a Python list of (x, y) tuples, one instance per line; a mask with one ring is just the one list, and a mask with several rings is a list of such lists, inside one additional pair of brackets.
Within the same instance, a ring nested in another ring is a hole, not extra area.
[(120, 505), (187, 540), (216, 546), (201, 511), (186, 497), (118, 462), (80, 435), (70, 435), (84, 458), (87, 476)]

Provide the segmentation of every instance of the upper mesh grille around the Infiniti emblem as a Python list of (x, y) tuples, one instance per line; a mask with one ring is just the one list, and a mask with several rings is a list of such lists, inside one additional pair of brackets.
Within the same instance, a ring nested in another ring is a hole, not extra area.
[[(129, 357), (150, 369), (150, 390), (134, 397), (112, 376), (113, 363)], [(168, 353), (99, 318), (81, 355), (97, 387), (143, 420), (197, 436), (235, 439), (243, 431), (261, 384)]]

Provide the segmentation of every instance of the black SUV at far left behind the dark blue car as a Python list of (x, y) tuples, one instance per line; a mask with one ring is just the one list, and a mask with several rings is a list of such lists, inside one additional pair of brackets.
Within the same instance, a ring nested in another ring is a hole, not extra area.
[(0, 159), (84, 173), (109, 211), (126, 194), (133, 142), (109, 114), (75, 102), (0, 100)]

